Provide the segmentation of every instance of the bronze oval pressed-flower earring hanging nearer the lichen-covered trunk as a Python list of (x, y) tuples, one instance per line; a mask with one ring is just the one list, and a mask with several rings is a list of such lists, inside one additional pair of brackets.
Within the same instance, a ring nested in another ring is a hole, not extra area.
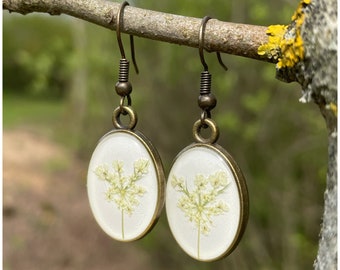
[[(216, 98), (211, 94), (211, 74), (204, 60), (204, 17), (199, 33), (199, 54), (204, 71), (198, 99), (201, 117), (193, 126), (195, 143), (175, 158), (166, 189), (169, 227), (181, 248), (200, 261), (230, 254), (240, 241), (248, 220), (248, 191), (244, 176), (232, 158), (216, 144), (219, 130), (211, 119)], [(223, 65), (219, 53), (219, 62)], [(226, 68), (223, 65), (224, 68)], [(201, 134), (210, 129), (208, 138)]]

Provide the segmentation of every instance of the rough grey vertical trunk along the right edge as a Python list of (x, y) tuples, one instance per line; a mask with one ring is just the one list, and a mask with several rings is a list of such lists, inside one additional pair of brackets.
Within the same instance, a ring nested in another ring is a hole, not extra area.
[(337, 1), (312, 1), (302, 28), (306, 57), (298, 80), (328, 129), (328, 172), (323, 223), (315, 269), (337, 268)]

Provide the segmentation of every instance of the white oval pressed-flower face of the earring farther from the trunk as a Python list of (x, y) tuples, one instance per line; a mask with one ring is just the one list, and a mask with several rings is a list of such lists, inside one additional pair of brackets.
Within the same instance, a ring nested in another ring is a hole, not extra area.
[(90, 206), (100, 227), (116, 240), (144, 236), (162, 204), (160, 168), (148, 149), (145, 138), (117, 130), (106, 134), (92, 154), (87, 176)]

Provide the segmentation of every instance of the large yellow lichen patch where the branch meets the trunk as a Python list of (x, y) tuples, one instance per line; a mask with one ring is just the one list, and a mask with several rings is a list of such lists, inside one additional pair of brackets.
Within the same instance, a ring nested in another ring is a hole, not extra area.
[(267, 29), (268, 43), (258, 48), (258, 54), (277, 60), (276, 67), (292, 68), (304, 58), (301, 26), (304, 22), (303, 9), (311, 0), (302, 0), (288, 25), (270, 25)]

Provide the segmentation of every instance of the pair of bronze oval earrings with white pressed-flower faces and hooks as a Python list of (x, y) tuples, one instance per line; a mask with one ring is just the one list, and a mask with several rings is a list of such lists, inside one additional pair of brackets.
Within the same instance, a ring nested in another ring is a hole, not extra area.
[[(116, 92), (121, 97), (113, 111), (114, 130), (99, 141), (89, 164), (87, 190), (92, 212), (112, 238), (129, 242), (145, 236), (156, 224), (166, 204), (174, 238), (191, 257), (213, 261), (232, 252), (248, 219), (248, 192), (234, 159), (216, 144), (219, 130), (211, 119), (216, 105), (210, 93), (211, 75), (204, 61), (204, 17), (199, 33), (199, 53), (204, 71), (198, 104), (201, 117), (193, 126), (195, 142), (178, 154), (167, 184), (162, 162), (149, 139), (135, 130), (137, 114), (131, 106), (129, 62), (120, 38), (123, 2), (117, 15), (117, 40), (121, 51)], [(133, 52), (133, 36), (130, 36)], [(219, 53), (218, 59), (221, 62)], [(132, 53), (135, 64), (134, 53)], [(137, 65), (135, 64), (138, 73)], [(128, 115), (124, 125), (122, 115)], [(210, 128), (209, 138), (202, 129)]]

